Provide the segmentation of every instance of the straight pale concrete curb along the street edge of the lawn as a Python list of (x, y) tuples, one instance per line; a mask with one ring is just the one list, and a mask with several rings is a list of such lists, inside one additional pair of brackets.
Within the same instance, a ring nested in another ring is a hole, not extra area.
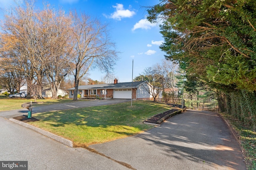
[(28, 129), (31, 129), (31, 130), (36, 131), (36, 132), (38, 132), (38, 133), (41, 133), (41, 134), (44, 135), (44, 136), (50, 137), (50, 138), (54, 139), (55, 141), (58, 141), (58, 142), (60, 142), (60, 143), (62, 143), (62, 144), (64, 144), (64, 145), (67, 145), (68, 147), (73, 147), (72, 141), (70, 141), (70, 140), (68, 140), (68, 139), (65, 139), (65, 138), (63, 138), (63, 137), (60, 137), (60, 136), (58, 136), (58, 135), (54, 135), (53, 133), (50, 133), (50, 132), (48, 132), (48, 131), (44, 131), (44, 130), (38, 128), (38, 127), (34, 127), (34, 126), (32, 126), (32, 125), (29, 125), (28, 123), (24, 123), (24, 122), (22, 122), (22, 121), (18, 121), (18, 120), (13, 119), (13, 118), (11, 118), (11, 119), (9, 119), (9, 120), (12, 121), (12, 122), (14, 122), (14, 123), (18, 123), (19, 125), (22, 125), (22, 126), (28, 128)]

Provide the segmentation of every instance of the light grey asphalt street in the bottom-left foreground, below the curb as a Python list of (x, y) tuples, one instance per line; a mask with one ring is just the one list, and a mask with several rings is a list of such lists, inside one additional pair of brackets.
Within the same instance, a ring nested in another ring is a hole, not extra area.
[(67, 147), (2, 117), (0, 160), (28, 161), (28, 170), (128, 169), (86, 149)]

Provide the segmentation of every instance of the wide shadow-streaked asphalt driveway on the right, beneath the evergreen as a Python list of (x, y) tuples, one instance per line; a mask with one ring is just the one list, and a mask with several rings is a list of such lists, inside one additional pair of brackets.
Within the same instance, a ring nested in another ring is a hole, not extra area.
[(245, 170), (238, 142), (216, 113), (187, 110), (133, 137), (89, 146), (138, 170)]

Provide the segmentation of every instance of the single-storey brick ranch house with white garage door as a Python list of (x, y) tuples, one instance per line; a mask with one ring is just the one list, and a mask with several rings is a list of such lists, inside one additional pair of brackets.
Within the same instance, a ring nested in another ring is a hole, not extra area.
[[(141, 99), (152, 100), (149, 94), (150, 84), (147, 81), (118, 83), (115, 79), (112, 84), (92, 84), (78, 86), (78, 94), (81, 98), (120, 98), (120, 99)], [(70, 88), (69, 98), (73, 98), (75, 88)], [(162, 92), (158, 95), (162, 98)]]

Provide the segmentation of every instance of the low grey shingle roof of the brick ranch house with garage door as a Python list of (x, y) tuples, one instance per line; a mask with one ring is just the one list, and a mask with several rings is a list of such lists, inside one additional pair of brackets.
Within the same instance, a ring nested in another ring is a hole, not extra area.
[[(137, 88), (140, 84), (146, 81), (140, 82), (124, 82), (124, 83), (111, 83), (111, 84), (92, 84), (92, 85), (84, 85), (78, 86), (78, 90), (85, 90), (85, 89), (118, 89), (118, 88)], [(70, 88), (68, 90), (75, 90), (75, 88)]]

